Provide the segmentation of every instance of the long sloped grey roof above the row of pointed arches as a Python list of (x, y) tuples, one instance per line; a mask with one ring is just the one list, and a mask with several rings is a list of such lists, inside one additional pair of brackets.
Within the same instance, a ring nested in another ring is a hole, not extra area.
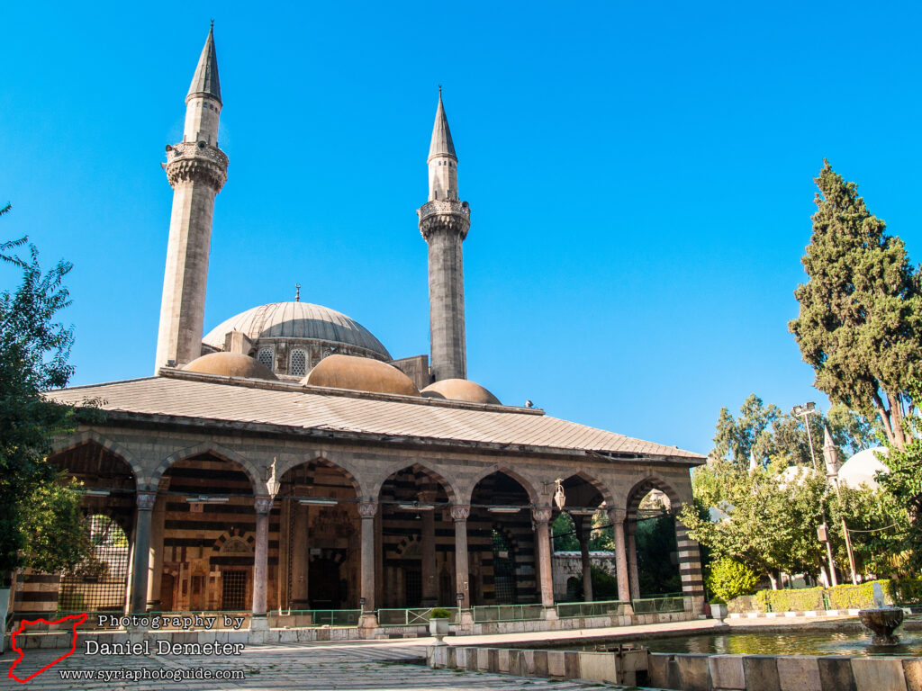
[(132, 416), (168, 416), (239, 424), (332, 430), (354, 435), (467, 442), (495, 448), (656, 456), (699, 464), (691, 451), (632, 439), (545, 415), (534, 408), (467, 404), (390, 394), (349, 392), (274, 381), (160, 370), (160, 376), (47, 392), (48, 398)]

